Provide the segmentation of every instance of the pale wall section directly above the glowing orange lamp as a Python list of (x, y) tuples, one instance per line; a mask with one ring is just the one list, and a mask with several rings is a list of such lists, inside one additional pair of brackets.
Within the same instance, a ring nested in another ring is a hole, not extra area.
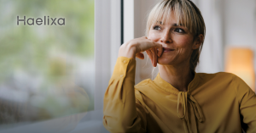
[(225, 0), (224, 5), (226, 47), (251, 48), (254, 51), (256, 71), (256, 2), (255, 0)]

